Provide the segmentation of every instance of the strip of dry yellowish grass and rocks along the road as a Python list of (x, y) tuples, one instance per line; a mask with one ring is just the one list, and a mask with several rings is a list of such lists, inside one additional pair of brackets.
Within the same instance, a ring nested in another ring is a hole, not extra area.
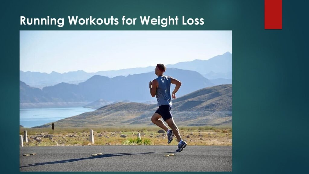
[[(54, 130), (52, 139), (49, 137), (39, 137), (38, 141), (31, 137), (38, 135), (45, 136), (52, 134), (51, 128), (27, 128), (28, 143), (24, 146), (85, 146), (93, 145), (89, 141), (90, 128), (58, 128)], [(94, 145), (172, 145), (176, 146), (176, 137), (167, 144), (166, 133), (158, 133), (160, 128), (93, 128), (95, 144)], [(20, 128), (20, 135), (23, 135), (24, 128)], [(142, 141), (137, 143), (137, 134), (141, 133)], [(120, 137), (121, 134), (127, 137)], [(180, 135), (189, 146), (231, 146), (232, 129), (229, 127), (180, 127)]]

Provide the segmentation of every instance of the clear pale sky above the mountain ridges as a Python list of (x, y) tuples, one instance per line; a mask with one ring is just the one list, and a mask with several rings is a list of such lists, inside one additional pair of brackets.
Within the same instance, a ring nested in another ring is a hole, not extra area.
[(232, 31), (20, 31), (19, 70), (98, 72), (232, 53)]

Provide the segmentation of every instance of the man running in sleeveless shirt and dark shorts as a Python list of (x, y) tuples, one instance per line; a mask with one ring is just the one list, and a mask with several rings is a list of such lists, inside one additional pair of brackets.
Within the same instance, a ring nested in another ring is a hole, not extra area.
[[(155, 111), (154, 115), (152, 115), (151, 121), (167, 132), (167, 143), (171, 143), (171, 141), (173, 141), (173, 136), (176, 136), (178, 140), (178, 149), (176, 152), (180, 152), (187, 146), (187, 143), (182, 141), (179, 129), (171, 114), (171, 83), (176, 85), (174, 91), (172, 92), (172, 98), (176, 98), (175, 94), (180, 88), (181, 82), (170, 76), (164, 76), (163, 72), (165, 72), (165, 70), (166, 67), (163, 64), (157, 64), (155, 67), (155, 75), (157, 75), (158, 78), (149, 82), (150, 94), (152, 97), (156, 96), (159, 107), (159, 109)], [(161, 117), (171, 129), (168, 129), (164, 122), (159, 120)]]

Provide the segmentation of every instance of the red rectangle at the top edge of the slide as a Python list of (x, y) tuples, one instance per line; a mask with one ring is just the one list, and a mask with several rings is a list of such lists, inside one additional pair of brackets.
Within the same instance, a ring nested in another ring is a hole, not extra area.
[(264, 28), (282, 29), (282, 0), (264, 0)]

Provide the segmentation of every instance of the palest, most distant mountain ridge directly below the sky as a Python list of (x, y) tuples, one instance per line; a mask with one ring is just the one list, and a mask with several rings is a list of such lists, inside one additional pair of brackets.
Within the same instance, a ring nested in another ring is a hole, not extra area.
[[(207, 79), (227, 79), (231, 82), (232, 79), (232, 54), (226, 52), (222, 55), (215, 56), (208, 60), (193, 60), (190, 62), (180, 62), (173, 65), (166, 65), (167, 68), (178, 68), (184, 70), (196, 71), (202, 74)], [(155, 66), (128, 68), (121, 70), (99, 71), (87, 73), (84, 71), (75, 71), (67, 73), (41, 73), (41, 72), (23, 72), (19, 71), (19, 80), (25, 82), (27, 85), (43, 88), (46, 86), (56, 85), (61, 82), (69, 84), (78, 84), (86, 81), (94, 75), (116, 77), (128, 76), (133, 74), (141, 74), (146, 72), (154, 72)]]

